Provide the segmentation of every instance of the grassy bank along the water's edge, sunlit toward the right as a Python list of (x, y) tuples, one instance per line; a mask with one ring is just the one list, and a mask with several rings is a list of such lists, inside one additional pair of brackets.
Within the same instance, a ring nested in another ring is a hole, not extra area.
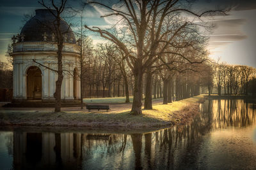
[[(204, 96), (195, 96), (171, 104), (154, 104), (153, 110), (143, 110), (142, 115), (129, 113), (131, 108), (111, 111), (72, 110), (54, 113), (51, 111), (1, 110), (3, 126), (37, 127), (92, 127), (112, 129), (148, 129), (185, 124), (199, 112), (199, 103)], [(120, 106), (122, 107), (122, 106)]]

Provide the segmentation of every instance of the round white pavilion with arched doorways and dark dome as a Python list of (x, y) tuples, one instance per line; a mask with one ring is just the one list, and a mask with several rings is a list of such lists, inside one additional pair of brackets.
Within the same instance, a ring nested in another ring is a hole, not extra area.
[[(56, 11), (52, 10), (53, 13)], [(20, 34), (13, 36), (13, 102), (40, 100), (52, 102), (55, 92), (57, 69), (57, 43), (54, 36), (54, 15), (49, 10), (36, 10), (35, 17), (26, 22)], [(61, 100), (65, 102), (81, 98), (78, 73), (79, 47), (71, 28), (61, 20), (64, 35)], [(33, 59), (44, 65), (36, 64)]]

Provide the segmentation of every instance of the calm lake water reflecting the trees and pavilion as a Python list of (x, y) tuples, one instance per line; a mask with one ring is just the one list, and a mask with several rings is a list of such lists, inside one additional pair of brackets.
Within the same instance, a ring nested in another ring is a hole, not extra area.
[(0, 131), (0, 169), (255, 169), (256, 104), (206, 100), (191, 123), (150, 133)]

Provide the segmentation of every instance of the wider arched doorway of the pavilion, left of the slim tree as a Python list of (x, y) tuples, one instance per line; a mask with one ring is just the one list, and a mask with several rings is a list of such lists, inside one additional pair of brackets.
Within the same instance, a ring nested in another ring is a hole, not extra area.
[(42, 72), (36, 66), (31, 66), (27, 71), (27, 99), (42, 99)]

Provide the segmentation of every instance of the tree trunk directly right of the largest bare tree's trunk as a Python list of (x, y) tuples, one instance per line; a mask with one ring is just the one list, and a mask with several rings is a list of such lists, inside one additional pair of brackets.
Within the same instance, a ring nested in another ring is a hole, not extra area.
[(152, 72), (147, 71), (144, 109), (152, 110)]

